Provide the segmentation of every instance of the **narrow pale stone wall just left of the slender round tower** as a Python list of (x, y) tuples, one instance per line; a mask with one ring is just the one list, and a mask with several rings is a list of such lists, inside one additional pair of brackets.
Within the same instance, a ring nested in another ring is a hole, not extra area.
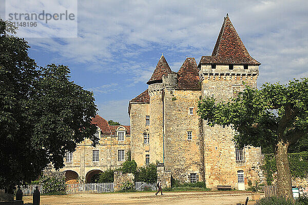
[[(149, 126), (145, 124), (145, 116), (150, 115), (149, 104), (134, 103), (130, 108), (131, 158), (138, 166), (145, 165), (145, 155), (150, 154), (149, 144), (144, 144), (143, 135), (149, 134)], [(151, 117), (150, 117), (151, 121)], [(151, 142), (151, 136), (150, 136)]]

